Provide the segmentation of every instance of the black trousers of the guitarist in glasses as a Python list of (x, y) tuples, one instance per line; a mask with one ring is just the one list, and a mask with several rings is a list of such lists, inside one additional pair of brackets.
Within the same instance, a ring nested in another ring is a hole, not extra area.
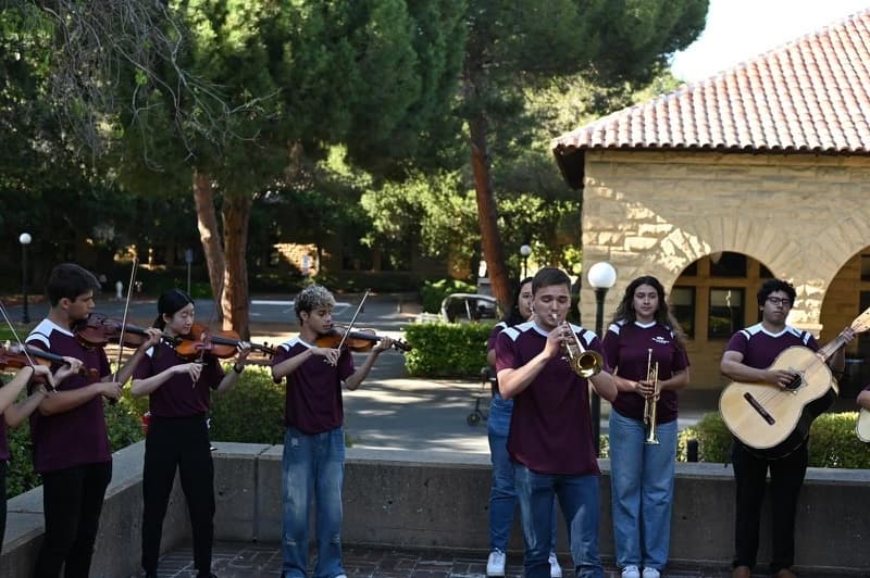
[(807, 473), (807, 442), (779, 460), (767, 460), (751, 453), (734, 440), (732, 463), (737, 487), (736, 519), (734, 524), (734, 567), (753, 568), (758, 553), (758, 526), (761, 504), (765, 501), (767, 474), (770, 468), (770, 498), (772, 517), (773, 555), (770, 573), (775, 574), (794, 564), (795, 513), (800, 487)]

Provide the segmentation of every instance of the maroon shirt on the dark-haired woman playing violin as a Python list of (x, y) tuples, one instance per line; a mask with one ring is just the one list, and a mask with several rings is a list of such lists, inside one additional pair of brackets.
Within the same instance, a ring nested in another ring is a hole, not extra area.
[[(147, 379), (176, 365), (190, 363), (175, 354), (175, 348), (161, 341), (150, 348), (133, 372), (134, 379)], [(224, 378), (220, 362), (206, 355), (202, 373), (196, 385), (188, 373), (173, 374), (148, 395), (152, 417), (192, 417), (209, 411), (210, 390), (217, 389)]]

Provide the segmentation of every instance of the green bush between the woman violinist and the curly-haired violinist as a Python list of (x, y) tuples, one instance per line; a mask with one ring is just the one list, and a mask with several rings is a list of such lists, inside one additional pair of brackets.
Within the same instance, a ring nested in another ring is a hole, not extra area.
[(269, 367), (248, 366), (235, 387), (212, 397), (210, 437), (239, 443), (284, 443), (284, 386)]

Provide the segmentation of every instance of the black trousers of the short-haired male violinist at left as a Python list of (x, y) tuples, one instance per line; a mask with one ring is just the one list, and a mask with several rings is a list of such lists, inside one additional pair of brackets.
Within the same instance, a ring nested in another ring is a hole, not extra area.
[(112, 462), (85, 464), (42, 474), (46, 537), (39, 549), (36, 578), (87, 578), (100, 526)]

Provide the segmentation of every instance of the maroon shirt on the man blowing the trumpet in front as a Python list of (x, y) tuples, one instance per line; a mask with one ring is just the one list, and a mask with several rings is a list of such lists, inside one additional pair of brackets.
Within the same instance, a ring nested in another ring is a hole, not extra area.
[[(598, 337), (571, 325), (586, 350), (601, 352)], [(496, 339), (496, 370), (515, 369), (544, 350), (547, 332), (526, 322), (505, 328)], [(550, 359), (513, 400), (508, 452), (539, 474), (598, 475), (592, 440), (588, 382), (560, 355)]]

